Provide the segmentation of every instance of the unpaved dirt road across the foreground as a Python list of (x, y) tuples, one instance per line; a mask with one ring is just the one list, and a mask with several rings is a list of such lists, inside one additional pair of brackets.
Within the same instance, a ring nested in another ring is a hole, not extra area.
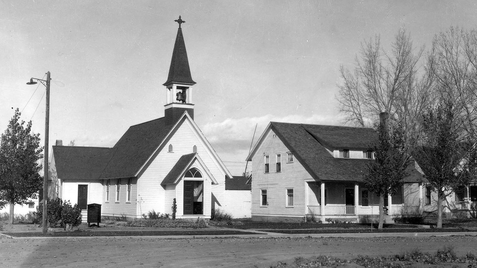
[(330, 255), (394, 255), (419, 248), (436, 252), (454, 247), (458, 256), (477, 255), (477, 237), (379, 238), (180, 238), (154, 237), (0, 237), (0, 267), (269, 267)]

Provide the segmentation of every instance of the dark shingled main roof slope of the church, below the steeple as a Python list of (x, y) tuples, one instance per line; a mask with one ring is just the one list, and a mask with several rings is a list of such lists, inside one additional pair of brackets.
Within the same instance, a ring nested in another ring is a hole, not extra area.
[(134, 177), (173, 125), (164, 117), (130, 126), (114, 145), (114, 155), (101, 178)]

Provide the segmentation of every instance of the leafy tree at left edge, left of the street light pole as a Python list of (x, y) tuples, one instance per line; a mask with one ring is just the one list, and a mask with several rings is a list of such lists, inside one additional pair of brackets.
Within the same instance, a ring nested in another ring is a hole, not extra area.
[(31, 133), (31, 121), (25, 125), (20, 115), (17, 108), (0, 137), (0, 200), (10, 204), (10, 224), (15, 204), (26, 204), (29, 198), (36, 198), (42, 186), (38, 173), (41, 164), (37, 162), (43, 156), (40, 134)]

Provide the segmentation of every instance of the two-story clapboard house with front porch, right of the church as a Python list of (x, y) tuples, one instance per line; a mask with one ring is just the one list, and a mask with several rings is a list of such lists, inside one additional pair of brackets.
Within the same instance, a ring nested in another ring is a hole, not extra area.
[[(379, 215), (379, 198), (363, 183), (373, 160), (372, 128), (270, 122), (252, 161), (252, 220), (363, 222)], [(395, 196), (385, 198), (387, 221), (423, 211), (423, 175), (414, 166)]]

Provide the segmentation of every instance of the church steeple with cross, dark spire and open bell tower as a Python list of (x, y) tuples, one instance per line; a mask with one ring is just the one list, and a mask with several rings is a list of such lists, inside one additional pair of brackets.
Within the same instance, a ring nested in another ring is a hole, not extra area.
[(186, 44), (182, 36), (181, 24), (186, 22), (179, 16), (179, 29), (177, 29), (176, 42), (172, 51), (171, 65), (167, 81), (163, 84), (166, 86), (166, 105), (165, 117), (166, 122), (170, 124), (176, 123), (177, 119), (187, 111), (194, 119), (194, 104), (192, 104), (192, 86), (196, 84), (190, 75), (189, 60), (187, 59)]

